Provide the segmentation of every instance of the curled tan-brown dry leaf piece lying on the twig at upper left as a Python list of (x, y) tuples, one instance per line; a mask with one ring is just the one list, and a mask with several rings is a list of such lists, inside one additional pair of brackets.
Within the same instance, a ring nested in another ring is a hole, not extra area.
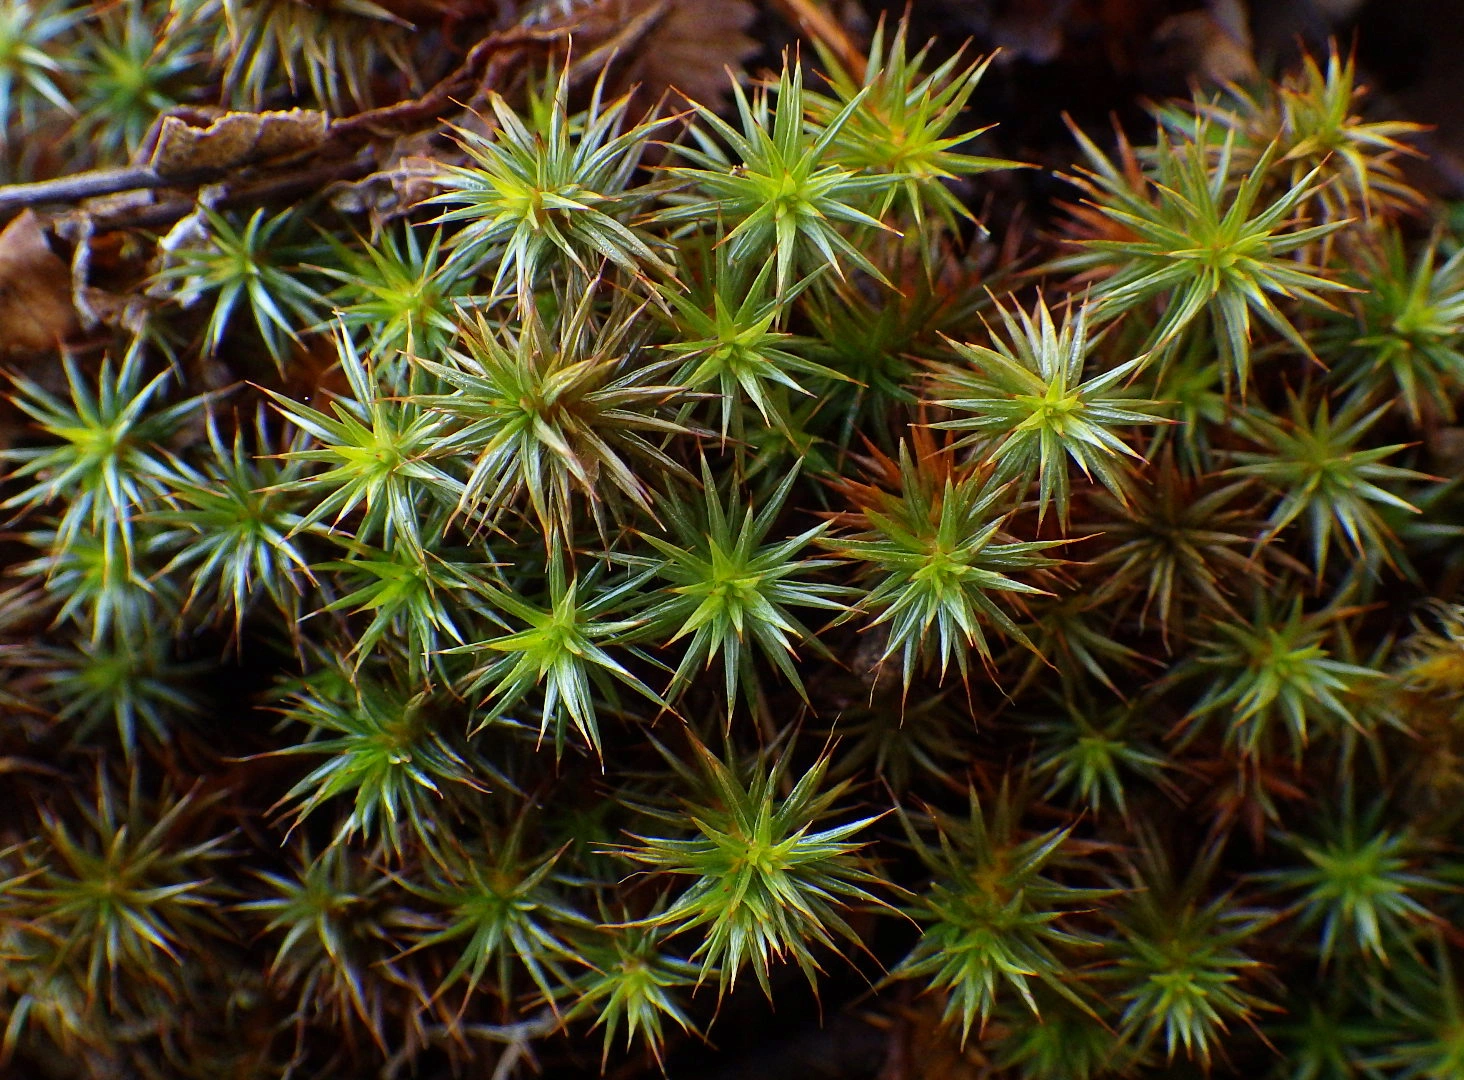
[(167, 116), (149, 164), (163, 177), (252, 165), (319, 146), (325, 127), (325, 113), (312, 108), (224, 113), (206, 124)]

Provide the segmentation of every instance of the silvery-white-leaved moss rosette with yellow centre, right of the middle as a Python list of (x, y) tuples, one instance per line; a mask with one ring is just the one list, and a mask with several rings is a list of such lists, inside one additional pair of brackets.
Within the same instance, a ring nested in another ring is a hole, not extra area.
[(994, 348), (952, 342), (969, 367), (935, 369), (935, 404), (957, 414), (935, 427), (971, 432), (956, 445), (974, 445), (996, 461), (997, 481), (1016, 480), (1025, 489), (1035, 479), (1038, 521), (1053, 503), (1067, 524), (1069, 460), (1123, 500), (1121, 462), (1139, 455), (1116, 429), (1159, 419), (1159, 402), (1123, 392), (1143, 357), (1083, 379), (1094, 347), (1085, 307), (1064, 312), (1061, 328), (1041, 299), (1031, 315), (1000, 304), (997, 313), (1004, 334), (991, 335)]

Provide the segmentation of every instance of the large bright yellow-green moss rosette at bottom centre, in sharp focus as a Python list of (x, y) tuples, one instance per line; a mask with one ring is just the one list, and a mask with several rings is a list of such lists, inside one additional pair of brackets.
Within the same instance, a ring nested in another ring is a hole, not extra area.
[(836, 950), (839, 938), (859, 941), (842, 909), (880, 901), (870, 891), (878, 877), (859, 856), (865, 841), (854, 839), (874, 818), (818, 828), (848, 787), (842, 781), (820, 790), (827, 757), (779, 796), (786, 757), (773, 765), (757, 760), (738, 768), (701, 743), (692, 749), (695, 767), (675, 764), (694, 795), (666, 820), (690, 821), (695, 834), (638, 836), (625, 849), (634, 863), (692, 878), (649, 923), (678, 934), (706, 926), (691, 961), (698, 964), (697, 982), (716, 975), (723, 994), (751, 966), (772, 998), (773, 961), (789, 959), (815, 983), (814, 947)]

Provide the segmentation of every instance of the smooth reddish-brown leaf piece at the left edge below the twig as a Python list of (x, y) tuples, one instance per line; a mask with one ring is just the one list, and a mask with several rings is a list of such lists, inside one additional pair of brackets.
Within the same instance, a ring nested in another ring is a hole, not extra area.
[(22, 211), (0, 233), (0, 353), (45, 353), (75, 329), (72, 272)]

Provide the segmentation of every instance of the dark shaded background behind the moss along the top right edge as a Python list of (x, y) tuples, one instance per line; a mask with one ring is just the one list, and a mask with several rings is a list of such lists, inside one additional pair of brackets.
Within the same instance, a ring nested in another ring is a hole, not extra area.
[[(856, 28), (905, 7), (851, 1), (842, 13)], [(1145, 100), (1274, 76), (1301, 48), (1323, 54), (1335, 40), (1356, 48), (1373, 91), (1364, 111), (1435, 126), (1420, 139), (1432, 161), (1416, 179), (1464, 199), (1464, 0), (914, 0), (911, 12), (912, 40), (1001, 50), (981, 120), (1000, 123), (994, 138), (1029, 160), (1060, 154), (1056, 167), (1072, 161), (1064, 111), (1088, 130), (1116, 116), (1142, 138)]]

